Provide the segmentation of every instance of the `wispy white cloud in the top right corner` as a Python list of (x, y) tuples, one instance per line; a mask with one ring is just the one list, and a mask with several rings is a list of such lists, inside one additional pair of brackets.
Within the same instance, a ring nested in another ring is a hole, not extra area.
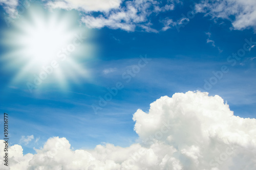
[[(196, 11), (212, 18), (229, 19), (233, 29), (253, 28), (256, 31), (256, 1), (253, 0), (206, 0), (196, 5)], [(233, 18), (234, 17), (234, 18)]]

